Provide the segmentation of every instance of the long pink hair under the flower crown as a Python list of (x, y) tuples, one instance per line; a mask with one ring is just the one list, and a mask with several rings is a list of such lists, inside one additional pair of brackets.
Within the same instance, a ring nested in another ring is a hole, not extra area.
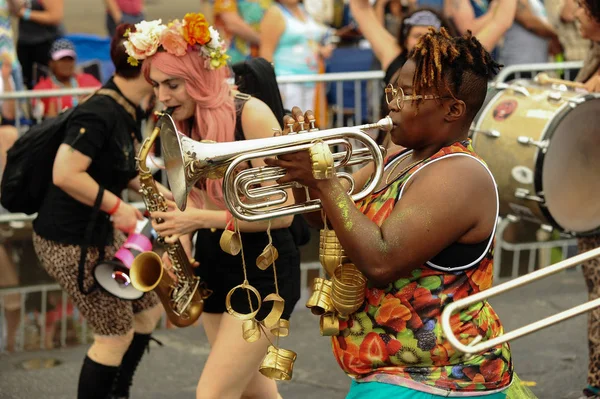
[[(212, 140), (216, 142), (234, 141), (235, 106), (226, 82), (227, 68), (210, 70), (205, 67), (205, 59), (197, 52), (190, 51), (182, 57), (166, 52), (157, 52), (144, 61), (144, 76), (150, 81), (150, 66), (169, 76), (183, 78), (185, 88), (196, 102), (196, 112), (191, 128), (188, 121), (176, 122), (177, 130), (194, 140)], [(222, 180), (207, 180), (208, 196), (225, 209)], [(203, 188), (202, 180), (197, 184)], [(192, 190), (191, 200), (202, 206), (201, 197)]]

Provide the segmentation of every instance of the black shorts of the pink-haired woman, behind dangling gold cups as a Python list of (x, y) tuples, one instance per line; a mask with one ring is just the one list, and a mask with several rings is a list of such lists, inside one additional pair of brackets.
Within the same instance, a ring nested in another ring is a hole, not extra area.
[[(200, 262), (196, 273), (206, 286), (213, 291), (204, 303), (204, 312), (226, 312), (225, 298), (227, 293), (244, 281), (241, 253), (232, 256), (223, 252), (219, 240), (223, 230), (211, 232), (210, 229), (198, 230), (195, 259)], [(275, 293), (273, 267), (260, 270), (256, 266), (256, 258), (262, 253), (269, 240), (265, 232), (242, 233), (244, 258), (248, 282), (256, 288), (262, 299)], [(289, 320), (292, 310), (300, 299), (300, 251), (289, 229), (271, 230), (273, 245), (277, 248), (279, 258), (275, 261), (279, 295), (285, 300), (282, 318)], [(251, 295), (254, 309), (256, 302)], [(238, 289), (231, 297), (231, 306), (238, 313), (250, 313), (250, 305), (246, 290)], [(270, 312), (271, 302), (260, 308), (256, 318), (264, 319)]]

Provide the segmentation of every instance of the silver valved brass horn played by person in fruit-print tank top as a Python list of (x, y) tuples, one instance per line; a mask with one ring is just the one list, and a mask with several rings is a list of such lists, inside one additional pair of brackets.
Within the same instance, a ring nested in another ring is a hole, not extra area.
[[(185, 210), (188, 194), (198, 180), (223, 178), (223, 195), (229, 211), (235, 218), (249, 222), (321, 209), (320, 200), (317, 199), (280, 206), (288, 199), (285, 190), (293, 187), (295, 183), (262, 186), (265, 182), (283, 177), (285, 170), (278, 167), (243, 169), (252, 159), (307, 150), (315, 142), (324, 142), (330, 147), (342, 147), (343, 151), (333, 154), (334, 167), (338, 177), (350, 182), (349, 192), (354, 191), (354, 181), (350, 174), (340, 169), (375, 163), (369, 183), (360, 192), (352, 195), (352, 199), (358, 201), (371, 193), (383, 176), (385, 149), (378, 146), (366, 131), (390, 131), (393, 127), (392, 120), (386, 117), (377, 123), (355, 127), (318, 130), (311, 124), (309, 130), (299, 134), (214, 143), (198, 142), (178, 132), (168, 115), (161, 118), (159, 123), (162, 154), (177, 207)], [(353, 148), (350, 140), (356, 140), (364, 147)]]

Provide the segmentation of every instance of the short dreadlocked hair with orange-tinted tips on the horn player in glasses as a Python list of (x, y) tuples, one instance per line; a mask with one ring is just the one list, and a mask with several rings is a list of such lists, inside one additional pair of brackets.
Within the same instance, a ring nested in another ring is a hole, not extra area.
[[(429, 28), (409, 54), (416, 64), (414, 94), (433, 88), (442, 97), (448, 92), (467, 104), (474, 117), (487, 92), (487, 83), (499, 71), (496, 63), (471, 31), (452, 37), (445, 28)], [(422, 101), (422, 100), (421, 100)], [(417, 102), (417, 107), (419, 103)]]

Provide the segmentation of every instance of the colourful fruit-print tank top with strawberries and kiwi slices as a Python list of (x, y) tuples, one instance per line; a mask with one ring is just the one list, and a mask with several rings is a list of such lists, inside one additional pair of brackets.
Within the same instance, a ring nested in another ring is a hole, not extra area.
[[(411, 176), (436, 160), (457, 155), (473, 157), (487, 169), (470, 140), (457, 142), (357, 206), (381, 225)], [(430, 261), (385, 288), (367, 286), (363, 307), (340, 321), (340, 334), (332, 338), (342, 369), (359, 383), (379, 381), (443, 396), (491, 394), (507, 388), (513, 374), (508, 344), (465, 360), (441, 328), (441, 314), (447, 304), (492, 286), (493, 236), (470, 264), (448, 269)], [(503, 332), (487, 301), (455, 313), (451, 323), (462, 342), (470, 342), (477, 335), (491, 339)]]

